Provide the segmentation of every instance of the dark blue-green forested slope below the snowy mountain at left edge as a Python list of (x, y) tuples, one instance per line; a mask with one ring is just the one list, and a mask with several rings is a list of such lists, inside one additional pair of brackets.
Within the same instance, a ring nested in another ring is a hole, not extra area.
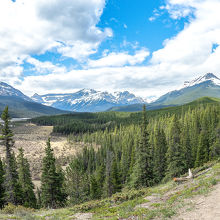
[(0, 96), (0, 112), (5, 106), (9, 107), (10, 116), (13, 118), (32, 118), (42, 115), (64, 114), (67, 111), (55, 109), (36, 102), (26, 101), (15, 96)]

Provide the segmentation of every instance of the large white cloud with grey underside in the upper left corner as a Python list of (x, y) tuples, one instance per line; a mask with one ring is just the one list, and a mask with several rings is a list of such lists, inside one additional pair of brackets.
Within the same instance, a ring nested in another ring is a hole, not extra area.
[(104, 7), (105, 0), (1, 0), (0, 67), (52, 48), (82, 60), (112, 36), (96, 26)]

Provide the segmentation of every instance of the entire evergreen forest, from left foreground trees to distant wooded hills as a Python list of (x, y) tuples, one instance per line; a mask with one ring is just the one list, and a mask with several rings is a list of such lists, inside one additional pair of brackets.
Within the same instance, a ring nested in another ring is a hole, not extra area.
[(202, 98), (179, 107), (137, 113), (84, 113), (32, 119), (53, 125), (85, 147), (65, 170), (57, 164), (50, 138), (42, 162), (41, 187), (34, 192), (23, 149), (13, 153), (8, 108), (2, 113), (0, 205), (58, 208), (110, 197), (121, 190), (166, 182), (220, 156), (220, 104)]

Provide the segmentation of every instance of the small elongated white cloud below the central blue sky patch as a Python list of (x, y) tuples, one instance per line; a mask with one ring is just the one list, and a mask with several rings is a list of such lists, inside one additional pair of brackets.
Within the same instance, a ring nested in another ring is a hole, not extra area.
[(98, 60), (89, 60), (89, 67), (110, 67), (110, 66), (125, 66), (136, 65), (142, 63), (146, 57), (150, 55), (149, 51), (145, 48), (137, 50), (134, 55), (128, 54), (128, 52), (121, 53), (109, 53)]

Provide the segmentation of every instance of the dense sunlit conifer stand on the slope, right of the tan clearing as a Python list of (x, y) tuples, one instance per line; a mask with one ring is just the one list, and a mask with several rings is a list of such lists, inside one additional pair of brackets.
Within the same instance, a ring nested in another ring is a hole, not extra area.
[[(87, 144), (67, 168), (71, 201), (76, 204), (109, 197), (125, 187), (157, 184), (218, 157), (219, 107), (188, 106), (157, 117), (149, 116), (149, 111), (146, 117), (143, 111), (138, 123), (70, 135), (70, 143)], [(206, 159), (198, 159), (203, 151)]]

